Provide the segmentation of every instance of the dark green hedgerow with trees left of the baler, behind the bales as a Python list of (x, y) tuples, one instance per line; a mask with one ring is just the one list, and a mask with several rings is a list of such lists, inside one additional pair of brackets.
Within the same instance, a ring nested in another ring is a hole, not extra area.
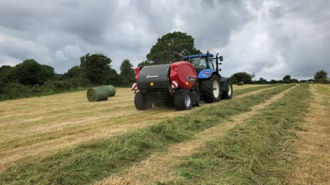
[(87, 53), (80, 57), (79, 66), (63, 75), (34, 59), (23, 60), (16, 66), (0, 66), (0, 100), (52, 95), (103, 84), (130, 86), (134, 70), (129, 59), (122, 61), (119, 74), (111, 68), (111, 62), (102, 53)]

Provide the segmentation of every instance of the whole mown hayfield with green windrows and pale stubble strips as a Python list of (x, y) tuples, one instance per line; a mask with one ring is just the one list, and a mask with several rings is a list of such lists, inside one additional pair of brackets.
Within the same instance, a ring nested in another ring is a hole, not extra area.
[[(0, 105), (5, 106), (0, 184), (326, 184), (329, 179), (329, 173), (313, 168), (329, 167), (322, 166), (329, 162), (329, 86), (234, 86), (234, 99), (183, 112), (137, 111), (131, 90), (120, 90), (95, 103), (87, 102), (85, 92), (0, 102), (8, 103)], [(317, 130), (305, 127), (316, 119), (313, 105), (325, 111)], [(299, 133), (307, 131), (309, 140), (316, 141), (317, 134), (325, 140), (322, 149), (318, 142), (309, 144), (319, 148), (310, 156), (301, 146), (305, 134)], [(310, 162), (315, 157), (320, 160)], [(305, 177), (310, 170), (312, 180)]]

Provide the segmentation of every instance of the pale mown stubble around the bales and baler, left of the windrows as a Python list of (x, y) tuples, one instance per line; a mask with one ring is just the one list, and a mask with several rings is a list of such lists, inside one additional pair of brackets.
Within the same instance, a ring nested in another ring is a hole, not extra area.
[[(270, 86), (234, 86), (243, 94)], [(244, 92), (241, 90), (244, 89)], [(190, 111), (135, 110), (130, 88), (117, 88), (108, 101), (88, 102), (86, 91), (0, 102), (0, 171), (22, 158), (118, 136)], [(203, 106), (210, 106), (203, 103)]]

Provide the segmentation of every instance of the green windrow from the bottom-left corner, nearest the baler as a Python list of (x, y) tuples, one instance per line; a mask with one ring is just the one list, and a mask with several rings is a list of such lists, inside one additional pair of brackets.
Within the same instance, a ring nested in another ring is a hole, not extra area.
[(130, 167), (151, 153), (165, 151), (173, 143), (191, 139), (206, 128), (223, 123), (230, 116), (247, 112), (292, 85), (223, 101), (217, 106), (198, 108), (189, 116), (166, 119), (102, 142), (80, 145), (42, 160), (21, 162), (0, 174), (3, 184), (88, 184)]

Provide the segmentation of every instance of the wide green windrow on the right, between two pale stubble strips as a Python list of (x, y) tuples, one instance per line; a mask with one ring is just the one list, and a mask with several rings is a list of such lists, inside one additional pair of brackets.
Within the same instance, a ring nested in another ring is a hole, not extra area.
[(310, 98), (309, 85), (291, 90), (269, 108), (236, 125), (206, 149), (184, 159), (181, 180), (164, 184), (285, 184), (295, 138)]

